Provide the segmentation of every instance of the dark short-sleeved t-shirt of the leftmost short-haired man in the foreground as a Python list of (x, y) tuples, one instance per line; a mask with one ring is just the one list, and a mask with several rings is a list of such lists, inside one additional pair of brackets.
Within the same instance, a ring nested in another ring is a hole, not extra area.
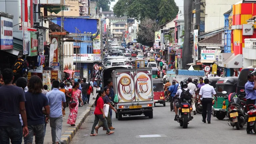
[(0, 87), (0, 126), (20, 127), (20, 104), (26, 101), (22, 88), (15, 85)]

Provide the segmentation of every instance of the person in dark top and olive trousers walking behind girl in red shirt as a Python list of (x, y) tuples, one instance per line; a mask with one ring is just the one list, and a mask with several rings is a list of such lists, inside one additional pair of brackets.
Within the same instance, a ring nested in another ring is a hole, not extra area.
[[(112, 104), (110, 103), (111, 100), (109, 99), (109, 92), (110, 92), (110, 89), (108, 87), (105, 87), (104, 88), (104, 91), (106, 93), (106, 96), (103, 97), (103, 101), (104, 101), (104, 104), (108, 104), (109, 105), (109, 111), (108, 111), (108, 117), (106, 118), (107, 120), (107, 123), (108, 123), (108, 128), (110, 130), (114, 130), (115, 128), (112, 126), (112, 120), (111, 120), (111, 116), (110, 116), (110, 111), (112, 111), (112, 109), (116, 112), (117, 110), (112, 106)], [(99, 121), (99, 125), (95, 127), (96, 130), (98, 130), (100, 127), (103, 127), (104, 124), (103, 122), (100, 120)], [(103, 130), (106, 130), (106, 128), (103, 127)]]

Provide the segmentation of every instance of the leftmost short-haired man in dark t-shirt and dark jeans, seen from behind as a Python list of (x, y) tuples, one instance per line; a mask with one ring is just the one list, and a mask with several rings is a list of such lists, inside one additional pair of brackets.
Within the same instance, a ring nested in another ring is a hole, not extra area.
[[(4, 69), (2, 72), (4, 85), (0, 87), (0, 143), (22, 143), (28, 135), (27, 115), (25, 109), (25, 94), (22, 88), (12, 85), (14, 74), (11, 69)], [(19, 119), (21, 114), (23, 128)]]

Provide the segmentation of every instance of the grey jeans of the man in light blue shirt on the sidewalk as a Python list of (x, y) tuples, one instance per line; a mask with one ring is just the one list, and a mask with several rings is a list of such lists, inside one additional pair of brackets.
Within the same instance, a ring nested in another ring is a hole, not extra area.
[(52, 143), (58, 142), (60, 144), (61, 131), (62, 131), (63, 116), (50, 117), (50, 126), (52, 128)]

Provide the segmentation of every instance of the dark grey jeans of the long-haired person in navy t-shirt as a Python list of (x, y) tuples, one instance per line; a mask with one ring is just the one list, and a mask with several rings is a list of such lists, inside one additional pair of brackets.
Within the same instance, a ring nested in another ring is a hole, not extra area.
[(28, 125), (28, 135), (24, 137), (24, 144), (32, 144), (33, 136), (35, 133), (35, 143), (43, 144), (44, 143), (44, 124), (39, 125)]

